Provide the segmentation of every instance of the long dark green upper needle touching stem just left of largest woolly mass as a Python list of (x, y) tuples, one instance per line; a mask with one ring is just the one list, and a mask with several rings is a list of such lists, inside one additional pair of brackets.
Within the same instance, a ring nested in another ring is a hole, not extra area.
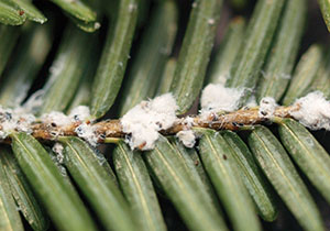
[(122, 0), (118, 18), (108, 29), (107, 42), (92, 85), (91, 116), (98, 119), (111, 108), (119, 92), (136, 26), (136, 0)]

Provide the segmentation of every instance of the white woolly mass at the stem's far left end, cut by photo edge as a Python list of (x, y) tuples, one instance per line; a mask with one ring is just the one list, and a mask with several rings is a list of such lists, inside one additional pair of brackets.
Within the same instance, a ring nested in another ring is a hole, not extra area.
[(13, 131), (32, 133), (30, 124), (35, 121), (35, 117), (24, 113), (21, 108), (7, 109), (0, 106), (0, 139), (6, 139)]

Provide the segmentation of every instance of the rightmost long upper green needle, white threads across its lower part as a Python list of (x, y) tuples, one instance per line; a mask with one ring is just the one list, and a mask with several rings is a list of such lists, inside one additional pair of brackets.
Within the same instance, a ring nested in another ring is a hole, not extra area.
[(279, 21), (274, 45), (256, 90), (256, 101), (273, 97), (279, 101), (292, 77), (299, 42), (306, 22), (307, 1), (287, 1)]

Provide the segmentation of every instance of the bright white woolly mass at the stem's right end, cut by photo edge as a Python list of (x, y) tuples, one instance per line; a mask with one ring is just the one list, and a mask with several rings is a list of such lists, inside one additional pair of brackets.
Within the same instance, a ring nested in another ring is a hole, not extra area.
[(290, 114), (305, 127), (311, 130), (330, 130), (330, 101), (326, 100), (322, 92), (310, 92), (297, 99), (295, 106), (299, 110), (292, 111)]

